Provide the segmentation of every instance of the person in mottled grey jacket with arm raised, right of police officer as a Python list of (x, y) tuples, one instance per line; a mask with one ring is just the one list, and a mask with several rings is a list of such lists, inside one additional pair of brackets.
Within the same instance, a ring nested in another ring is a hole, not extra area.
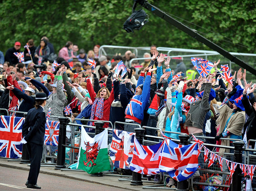
[[(68, 101), (67, 94), (64, 93), (65, 89), (62, 89), (62, 74), (66, 70), (67, 67), (62, 65), (54, 77), (54, 82), (51, 85), (53, 87), (52, 94), (48, 97), (46, 105), (44, 106), (44, 112), (46, 114), (49, 108), (51, 108), (52, 116), (63, 116), (63, 109)], [(58, 118), (50, 116), (49, 120), (58, 121)]]

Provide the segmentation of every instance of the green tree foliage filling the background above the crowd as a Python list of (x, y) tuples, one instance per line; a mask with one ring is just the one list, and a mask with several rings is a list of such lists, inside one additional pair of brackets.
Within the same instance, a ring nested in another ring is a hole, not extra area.
[[(255, 53), (255, 0), (148, 1), (228, 51)], [(38, 45), (42, 35), (55, 51), (68, 40), (87, 51), (95, 44), (209, 49), (147, 10), (149, 22), (140, 31), (125, 32), (132, 5), (133, 0), (3, 0), (0, 50), (5, 52), (15, 41), (24, 45), (30, 38)]]

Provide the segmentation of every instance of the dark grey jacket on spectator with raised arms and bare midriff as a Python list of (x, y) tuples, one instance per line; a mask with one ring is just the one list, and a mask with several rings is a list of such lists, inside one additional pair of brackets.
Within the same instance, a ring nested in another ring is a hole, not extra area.
[(206, 113), (210, 110), (210, 104), (208, 100), (211, 88), (212, 83), (203, 83), (201, 87), (201, 91), (204, 91), (202, 100), (198, 100), (190, 104), (190, 109), (187, 112), (185, 126), (193, 126), (199, 129), (203, 129)]

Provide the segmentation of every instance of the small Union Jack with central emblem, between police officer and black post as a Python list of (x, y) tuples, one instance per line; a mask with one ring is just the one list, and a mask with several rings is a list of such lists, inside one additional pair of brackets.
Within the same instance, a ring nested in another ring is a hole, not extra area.
[(48, 121), (45, 123), (44, 144), (58, 146), (58, 132), (60, 130), (60, 122)]

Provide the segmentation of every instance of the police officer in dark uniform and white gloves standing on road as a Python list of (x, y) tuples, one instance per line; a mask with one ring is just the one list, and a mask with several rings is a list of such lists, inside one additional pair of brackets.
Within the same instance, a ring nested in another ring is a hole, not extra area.
[(40, 171), (40, 163), (43, 152), (44, 134), (46, 117), (44, 106), (46, 104), (46, 94), (38, 93), (36, 95), (36, 107), (28, 111), (28, 115), (22, 125), (22, 140), (21, 143), (27, 144), (28, 155), (31, 161), (28, 180), (26, 181), (27, 188), (41, 189), (38, 186), (37, 179)]

